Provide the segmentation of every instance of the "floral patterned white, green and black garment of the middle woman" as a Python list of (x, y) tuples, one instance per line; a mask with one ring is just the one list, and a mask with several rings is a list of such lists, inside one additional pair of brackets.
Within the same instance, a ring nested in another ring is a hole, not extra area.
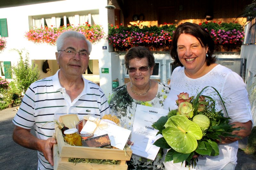
[[(170, 92), (170, 86), (158, 82), (156, 97), (151, 101), (138, 101), (132, 99), (128, 94), (126, 85), (117, 87), (109, 96), (109, 106), (114, 115), (120, 119), (123, 128), (132, 130), (136, 105), (145, 105), (156, 108), (163, 108), (164, 100)], [(157, 120), (156, 120), (157, 121)], [(162, 162), (162, 150), (160, 149), (154, 161), (132, 154), (131, 160), (127, 162), (128, 169), (164, 169)]]

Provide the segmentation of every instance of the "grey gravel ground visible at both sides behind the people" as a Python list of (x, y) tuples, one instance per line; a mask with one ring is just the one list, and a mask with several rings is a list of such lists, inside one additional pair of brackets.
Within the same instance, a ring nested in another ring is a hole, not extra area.
[[(0, 169), (3, 170), (33, 170), (37, 169), (37, 152), (16, 144), (12, 140), (14, 124), (12, 119), (17, 111), (16, 107), (0, 111)], [(34, 130), (31, 130), (35, 134)], [(239, 148), (246, 146), (246, 139), (239, 143)], [(247, 155), (243, 151), (237, 153), (236, 170), (254, 170), (256, 157)]]

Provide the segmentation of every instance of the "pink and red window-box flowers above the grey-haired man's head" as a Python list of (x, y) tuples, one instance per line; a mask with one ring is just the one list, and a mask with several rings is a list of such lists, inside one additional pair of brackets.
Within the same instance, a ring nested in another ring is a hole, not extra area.
[(83, 25), (79, 25), (76, 27), (72, 26), (63, 26), (63, 27), (44, 27), (44, 28), (36, 28), (28, 31), (25, 34), (28, 41), (32, 41), (34, 43), (47, 43), (50, 45), (55, 45), (58, 36), (65, 31), (74, 30), (80, 33), (83, 33), (85, 37), (92, 42), (92, 44), (100, 41), (104, 37), (103, 28), (100, 25), (90, 25), (86, 22)]

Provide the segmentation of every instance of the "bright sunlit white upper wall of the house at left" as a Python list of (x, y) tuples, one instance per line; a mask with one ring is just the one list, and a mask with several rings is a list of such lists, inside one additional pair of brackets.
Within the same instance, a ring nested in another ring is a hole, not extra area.
[[(108, 33), (107, 0), (65, 0), (43, 4), (25, 5), (11, 8), (1, 8), (0, 18), (7, 18), (8, 37), (7, 48), (0, 54), (0, 60), (15, 60), (9, 53), (11, 48), (26, 48), (31, 59), (55, 59), (56, 47), (48, 44), (35, 44), (25, 38), (25, 32), (29, 31), (29, 16), (66, 13), (74, 11), (86, 11), (99, 9), (100, 23), (105, 33)], [(101, 55), (102, 45), (106, 40), (99, 42), (92, 48), (90, 59), (98, 59)]]

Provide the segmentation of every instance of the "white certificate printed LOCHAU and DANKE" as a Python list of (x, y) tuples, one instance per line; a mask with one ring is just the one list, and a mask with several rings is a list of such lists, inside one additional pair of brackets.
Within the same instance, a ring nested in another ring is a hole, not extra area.
[(156, 158), (160, 148), (153, 144), (162, 135), (156, 136), (158, 130), (154, 129), (152, 124), (168, 113), (169, 110), (137, 105), (131, 135), (133, 154), (151, 160)]

